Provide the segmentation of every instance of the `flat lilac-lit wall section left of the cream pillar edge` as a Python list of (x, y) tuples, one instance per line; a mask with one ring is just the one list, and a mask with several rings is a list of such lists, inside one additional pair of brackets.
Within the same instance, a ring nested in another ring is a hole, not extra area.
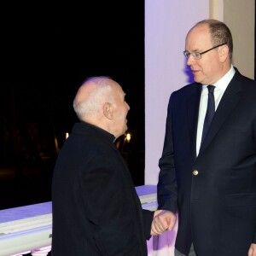
[(158, 181), (173, 90), (188, 84), (184, 40), (191, 26), (209, 18), (209, 1), (145, 0), (145, 184)]

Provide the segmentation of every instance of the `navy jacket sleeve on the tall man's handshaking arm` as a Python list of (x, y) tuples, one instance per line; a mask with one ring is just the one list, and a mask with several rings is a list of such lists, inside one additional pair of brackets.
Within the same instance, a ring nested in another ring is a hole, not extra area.
[(171, 212), (177, 211), (177, 182), (174, 166), (172, 138), (172, 96), (168, 104), (166, 118), (166, 136), (161, 158), (159, 160), (160, 174), (157, 184), (159, 209)]

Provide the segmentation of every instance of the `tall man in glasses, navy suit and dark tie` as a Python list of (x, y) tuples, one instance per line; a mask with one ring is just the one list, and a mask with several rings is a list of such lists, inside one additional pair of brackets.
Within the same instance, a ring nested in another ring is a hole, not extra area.
[[(256, 83), (233, 67), (232, 51), (218, 20), (195, 24), (185, 40), (195, 83), (170, 97), (153, 224), (172, 230), (178, 213), (175, 255), (256, 255)], [(202, 140), (207, 85), (215, 113)]]

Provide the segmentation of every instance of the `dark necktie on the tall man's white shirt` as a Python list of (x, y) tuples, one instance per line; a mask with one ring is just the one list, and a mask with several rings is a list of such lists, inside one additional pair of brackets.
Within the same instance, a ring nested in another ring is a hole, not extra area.
[(212, 118), (215, 113), (215, 101), (214, 101), (214, 91), (215, 86), (213, 85), (208, 85), (208, 103), (207, 103), (207, 113), (204, 121), (204, 126), (203, 126), (203, 131), (202, 131), (202, 136), (201, 136), (201, 144), (203, 143), (205, 137), (207, 136), (207, 131), (211, 125)]

